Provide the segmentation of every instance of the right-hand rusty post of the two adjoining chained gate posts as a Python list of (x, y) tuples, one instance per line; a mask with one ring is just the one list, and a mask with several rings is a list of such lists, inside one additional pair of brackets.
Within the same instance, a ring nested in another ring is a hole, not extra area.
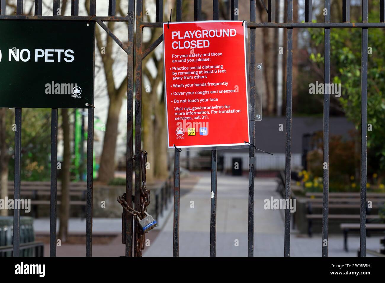
[[(136, 76), (135, 76), (135, 209), (140, 210), (140, 152), (142, 149), (142, 33), (140, 26), (143, 21), (143, 1), (136, 1)], [(137, 221), (134, 221), (134, 256), (140, 256), (136, 250)]]

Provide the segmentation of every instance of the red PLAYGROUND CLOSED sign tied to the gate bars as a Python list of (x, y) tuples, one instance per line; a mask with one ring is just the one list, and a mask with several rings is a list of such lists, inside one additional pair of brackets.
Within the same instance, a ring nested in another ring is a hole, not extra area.
[(168, 146), (249, 142), (246, 24), (163, 24)]

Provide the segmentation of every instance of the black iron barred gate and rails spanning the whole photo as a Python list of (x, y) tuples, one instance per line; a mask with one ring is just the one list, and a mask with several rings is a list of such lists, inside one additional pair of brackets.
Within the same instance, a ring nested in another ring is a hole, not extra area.
[[(187, 1), (187, 0), (184, 0)], [(192, 1), (192, 0), (191, 0)], [(330, 13), (325, 16), (325, 22), (312, 23), (312, 0), (305, 0), (305, 23), (293, 23), (293, 0), (287, 1), (287, 22), (276, 23), (275, 21), (275, 1), (268, 0), (266, 12), (268, 13), (267, 23), (256, 22), (256, 1), (250, 0), (250, 43), (249, 43), (249, 84), (251, 107), (255, 105), (256, 88), (255, 88), (255, 62), (256, 62), (256, 28), (286, 28), (287, 45), (286, 45), (286, 184), (285, 198), (290, 199), (290, 176), (291, 176), (291, 113), (292, 113), (292, 64), (293, 64), (293, 28), (324, 28), (325, 30), (325, 66), (324, 66), (324, 83), (330, 83), (330, 28), (361, 28), (362, 29), (362, 101), (361, 101), (361, 124), (367, 124), (367, 62), (368, 62), (368, 28), (384, 28), (385, 27), (385, 0), (380, 0), (380, 23), (368, 23), (368, 0), (362, 0), (362, 23), (350, 23), (350, 0), (343, 0), (343, 21), (341, 23), (330, 22)], [(141, 126), (142, 126), (142, 60), (154, 50), (163, 40), (163, 35), (156, 39), (146, 50), (143, 50), (142, 31), (144, 27), (161, 28), (163, 22), (163, 0), (156, 0), (156, 22), (143, 22), (143, 1), (136, 1), (136, 94), (135, 94), (135, 152), (133, 152), (133, 89), (134, 89), (134, 8), (135, 1), (129, 0), (129, 9), (127, 17), (116, 16), (116, 0), (109, 0), (109, 16), (98, 17), (95, 15), (96, 0), (90, 0), (90, 16), (80, 17), (79, 1), (72, 0), (72, 16), (57, 16), (55, 11), (59, 9), (59, 0), (53, 1), (54, 16), (42, 16), (42, 0), (35, 1), (35, 15), (23, 16), (23, 0), (17, 0), (17, 15), (5, 15), (5, 0), (1, 3), (1, 19), (18, 20), (88, 20), (89, 23), (97, 22), (111, 37), (119, 44), (119, 46), (127, 53), (127, 185), (126, 185), (126, 201), (132, 206), (132, 193), (135, 193), (135, 209), (139, 210), (140, 198), (140, 180), (141, 170), (140, 162), (133, 162), (134, 159), (139, 161), (141, 153)], [(263, 3), (264, 5), (264, 3)], [(238, 9), (238, 0), (230, 0), (231, 19), (238, 20), (238, 13), (234, 13)], [(219, 0), (213, 0), (213, 19), (219, 19)], [(202, 0), (194, 0), (194, 20), (201, 20)], [(325, 0), (325, 8), (330, 11), (330, 0)], [(176, 20), (182, 21), (182, 0), (176, 0)], [(103, 22), (116, 21), (128, 23), (128, 45), (124, 45), (117, 37), (108, 29)], [(329, 109), (330, 94), (324, 94), (323, 97), (323, 162), (329, 163)], [(16, 108), (15, 124), (21, 129), (22, 109)], [(250, 121), (251, 127), (251, 144), (255, 143), (255, 122)], [(88, 110), (88, 142), (87, 142), (87, 206), (86, 206), (86, 256), (92, 256), (92, 173), (93, 173), (93, 128), (94, 128), (94, 109)], [(15, 132), (15, 198), (20, 198), (20, 150), (21, 150), (21, 134), (20, 131)], [(133, 155), (134, 153), (134, 155)], [(248, 202), (248, 256), (254, 255), (254, 173), (255, 173), (255, 147), (249, 147), (249, 202)], [(57, 109), (52, 109), (51, 124), (51, 204), (50, 204), (50, 256), (56, 255), (56, 193), (57, 193), (57, 176), (55, 164), (57, 161)], [(52, 164), (54, 164), (52, 166)], [(179, 185), (180, 185), (180, 166), (181, 166), (181, 149), (175, 149), (174, 159), (174, 233), (173, 233), (173, 255), (179, 255)], [(329, 166), (328, 166), (329, 167)], [(135, 170), (135, 183), (133, 188), (132, 171)], [(361, 200), (360, 200), (360, 256), (366, 256), (366, 183), (367, 183), (367, 128), (361, 128)], [(217, 187), (217, 148), (213, 147), (211, 151), (211, 191), (214, 192), (214, 198), (211, 198), (211, 215), (210, 215), (210, 256), (216, 255), (216, 187)], [(328, 246), (323, 245), (324, 240), (328, 240), (328, 191), (329, 191), (329, 172), (328, 169), (323, 171), (323, 217), (322, 217), (322, 255), (328, 256)], [(209, 197), (208, 193), (208, 197)], [(126, 216), (126, 256), (132, 256), (133, 243), (133, 221), (132, 216)], [(137, 229), (137, 221), (134, 223)], [(15, 210), (13, 222), (13, 255), (19, 255), (19, 231), (20, 231), (20, 210)], [(136, 239), (135, 243), (136, 243)], [(285, 247), (284, 255), (290, 256), (290, 210), (285, 209)], [(134, 253), (137, 256), (137, 252)]]

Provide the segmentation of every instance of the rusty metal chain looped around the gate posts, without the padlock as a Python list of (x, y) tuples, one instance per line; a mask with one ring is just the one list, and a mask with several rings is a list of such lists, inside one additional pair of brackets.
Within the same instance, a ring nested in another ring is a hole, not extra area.
[[(150, 191), (146, 189), (146, 162), (147, 162), (147, 151), (141, 151), (140, 153), (140, 163), (141, 163), (141, 188), (140, 188), (140, 211), (135, 210), (126, 202), (126, 193), (122, 196), (118, 196), (117, 201), (121, 204), (123, 209), (134, 216), (135, 221), (143, 219), (146, 217), (145, 212), (147, 211), (147, 206), (150, 204)], [(124, 219), (123, 219), (124, 220)], [(137, 256), (142, 256), (142, 250), (144, 250), (145, 233), (136, 226), (138, 229), (135, 231), (135, 251)]]

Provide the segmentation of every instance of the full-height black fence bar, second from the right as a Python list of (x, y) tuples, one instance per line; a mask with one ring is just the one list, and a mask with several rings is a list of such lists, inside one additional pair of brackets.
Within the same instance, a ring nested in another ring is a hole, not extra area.
[[(325, 0), (325, 22), (330, 22), (330, 0)], [(330, 83), (330, 28), (325, 28), (324, 83)], [(328, 256), (329, 235), (329, 122), (330, 94), (323, 95), (323, 194), (322, 194), (322, 256)]]

